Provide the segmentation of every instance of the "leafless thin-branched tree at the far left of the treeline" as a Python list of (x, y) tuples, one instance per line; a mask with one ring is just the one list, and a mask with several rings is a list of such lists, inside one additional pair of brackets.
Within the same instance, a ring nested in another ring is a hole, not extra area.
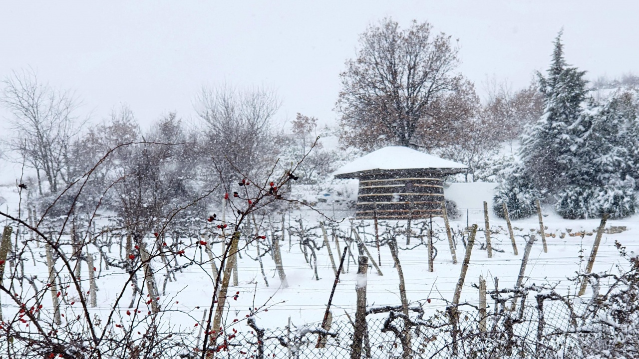
[(70, 182), (70, 146), (81, 127), (75, 116), (79, 101), (68, 91), (39, 82), (32, 71), (13, 72), (2, 83), (0, 103), (12, 114), (15, 131), (10, 148), (36, 170), (40, 194), (41, 176), (50, 192), (58, 192), (60, 184)]

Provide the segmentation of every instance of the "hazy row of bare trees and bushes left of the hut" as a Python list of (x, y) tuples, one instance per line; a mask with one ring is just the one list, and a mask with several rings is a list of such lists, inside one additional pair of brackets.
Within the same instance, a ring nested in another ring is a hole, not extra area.
[(298, 114), (287, 132), (275, 125), (280, 102), (264, 88), (204, 89), (193, 121), (169, 113), (142, 130), (128, 107), (89, 125), (77, 116), (77, 98), (31, 72), (15, 72), (3, 85), (14, 131), (4, 145), (24, 164), (27, 202), (50, 219), (90, 218), (98, 206), (139, 236), (167, 218), (171, 230), (187, 234), (243, 178), (265, 180), (307, 155), (296, 176), (316, 183), (339, 158), (315, 143), (317, 119)]

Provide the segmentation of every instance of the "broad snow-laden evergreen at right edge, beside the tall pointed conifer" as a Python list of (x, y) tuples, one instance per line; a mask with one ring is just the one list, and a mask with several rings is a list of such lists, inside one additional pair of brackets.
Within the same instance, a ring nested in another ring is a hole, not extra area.
[(568, 185), (557, 193), (555, 208), (564, 218), (610, 218), (632, 215), (636, 210), (633, 167), (636, 155), (636, 107), (632, 94), (618, 91), (596, 103), (590, 99), (574, 128), (572, 165)]

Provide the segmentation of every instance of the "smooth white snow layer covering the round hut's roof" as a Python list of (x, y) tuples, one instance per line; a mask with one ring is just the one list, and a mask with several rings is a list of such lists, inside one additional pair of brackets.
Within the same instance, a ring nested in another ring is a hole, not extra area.
[(389, 146), (357, 158), (333, 172), (334, 176), (375, 169), (466, 169), (468, 166), (403, 146)]

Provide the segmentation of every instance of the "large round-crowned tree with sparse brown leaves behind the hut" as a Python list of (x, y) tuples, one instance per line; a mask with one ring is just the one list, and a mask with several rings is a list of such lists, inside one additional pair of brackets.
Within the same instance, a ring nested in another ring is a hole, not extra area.
[[(434, 33), (428, 22), (401, 29), (384, 19), (359, 42), (357, 58), (346, 61), (340, 74), (342, 143), (366, 150), (431, 149), (454, 141), (451, 122), (472, 116), (477, 96), (457, 72), (459, 49), (450, 36)], [(456, 113), (449, 116), (446, 109)]]

